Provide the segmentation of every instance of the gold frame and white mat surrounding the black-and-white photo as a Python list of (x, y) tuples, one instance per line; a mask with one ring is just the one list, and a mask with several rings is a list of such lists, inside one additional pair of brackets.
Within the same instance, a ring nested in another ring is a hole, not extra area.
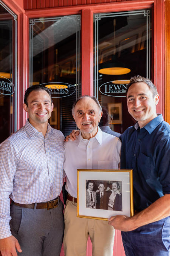
[[(77, 170), (77, 217), (108, 220), (111, 216), (133, 215), (132, 170)], [(119, 181), (122, 192), (122, 211), (86, 207), (86, 181)]]

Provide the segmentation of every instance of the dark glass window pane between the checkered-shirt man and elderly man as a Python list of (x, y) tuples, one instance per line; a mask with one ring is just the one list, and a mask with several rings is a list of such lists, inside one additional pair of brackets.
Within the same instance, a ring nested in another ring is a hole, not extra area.
[(80, 15), (30, 19), (29, 24), (30, 86), (51, 90), (56, 114), (49, 123), (68, 135), (76, 128), (71, 107), (81, 93)]

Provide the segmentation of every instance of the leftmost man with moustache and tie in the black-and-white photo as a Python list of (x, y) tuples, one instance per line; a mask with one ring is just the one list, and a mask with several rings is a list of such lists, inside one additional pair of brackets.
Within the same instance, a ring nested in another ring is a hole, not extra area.
[(96, 208), (96, 192), (93, 191), (94, 185), (93, 182), (87, 182), (86, 189), (86, 207), (87, 208)]

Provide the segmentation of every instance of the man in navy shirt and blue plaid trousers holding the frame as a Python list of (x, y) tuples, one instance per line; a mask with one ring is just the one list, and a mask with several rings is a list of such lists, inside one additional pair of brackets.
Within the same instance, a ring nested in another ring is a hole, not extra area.
[(127, 256), (170, 256), (170, 125), (156, 114), (158, 101), (149, 79), (130, 79), (128, 112), (138, 122), (121, 135), (121, 169), (133, 169), (135, 214), (109, 219), (124, 231)]

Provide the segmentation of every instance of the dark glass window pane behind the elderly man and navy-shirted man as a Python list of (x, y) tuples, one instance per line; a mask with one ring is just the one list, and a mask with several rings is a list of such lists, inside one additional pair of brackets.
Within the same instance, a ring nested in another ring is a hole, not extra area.
[(94, 14), (94, 96), (113, 116), (116, 132), (135, 122), (125, 97), (134, 75), (151, 79), (151, 10)]

